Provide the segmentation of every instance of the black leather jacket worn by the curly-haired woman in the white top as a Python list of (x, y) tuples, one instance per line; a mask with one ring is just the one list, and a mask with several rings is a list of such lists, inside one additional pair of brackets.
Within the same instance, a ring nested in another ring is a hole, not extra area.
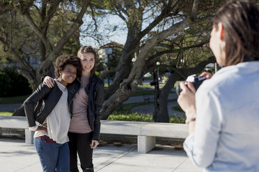
[[(68, 95), (70, 94), (71, 92), (68, 90)], [(24, 112), (29, 127), (36, 126), (36, 121), (43, 123), (50, 112), (52, 112), (61, 96), (62, 91), (58, 88), (56, 82), (54, 83), (53, 88), (49, 88), (47, 85), (43, 84), (39, 85), (36, 91), (24, 101)], [(71, 102), (72, 99), (68, 97), (68, 103)]]

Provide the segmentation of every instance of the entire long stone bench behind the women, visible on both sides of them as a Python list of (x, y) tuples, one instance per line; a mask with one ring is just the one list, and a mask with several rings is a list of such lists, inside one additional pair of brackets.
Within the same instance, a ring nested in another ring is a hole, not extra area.
[[(23, 128), (25, 143), (33, 144), (33, 133), (29, 130), (26, 117), (0, 117), (0, 128)], [(134, 121), (101, 120), (101, 133), (114, 135), (136, 135), (138, 152), (148, 153), (155, 148), (156, 137), (185, 139), (188, 135), (185, 124), (181, 123), (148, 123)]]

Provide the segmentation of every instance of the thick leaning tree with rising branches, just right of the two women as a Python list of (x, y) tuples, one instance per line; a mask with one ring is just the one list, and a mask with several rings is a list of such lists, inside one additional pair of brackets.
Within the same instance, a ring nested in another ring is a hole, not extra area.
[[(211, 24), (212, 16), (221, 3), (203, 1), (198, 4), (198, 0), (105, 2), (105, 9), (109, 9), (111, 14), (118, 15), (126, 23), (127, 40), (118, 65), (105, 69), (100, 74), (100, 77), (104, 78), (109, 72), (116, 72), (113, 83), (105, 90), (102, 119), (107, 119), (109, 114), (136, 90), (155, 46), (172, 35), (175, 35), (174, 39), (177, 40), (182, 37), (179, 33), (184, 34), (185, 30), (192, 28), (194, 24)], [(203, 8), (198, 10), (198, 6)], [(134, 63), (132, 58), (136, 59)]]

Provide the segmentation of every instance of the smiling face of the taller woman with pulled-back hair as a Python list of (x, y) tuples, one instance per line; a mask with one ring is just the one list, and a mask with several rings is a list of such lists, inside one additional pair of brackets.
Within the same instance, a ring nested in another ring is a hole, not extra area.
[(95, 55), (93, 53), (82, 53), (80, 55), (81, 66), (84, 74), (90, 74), (95, 67)]

